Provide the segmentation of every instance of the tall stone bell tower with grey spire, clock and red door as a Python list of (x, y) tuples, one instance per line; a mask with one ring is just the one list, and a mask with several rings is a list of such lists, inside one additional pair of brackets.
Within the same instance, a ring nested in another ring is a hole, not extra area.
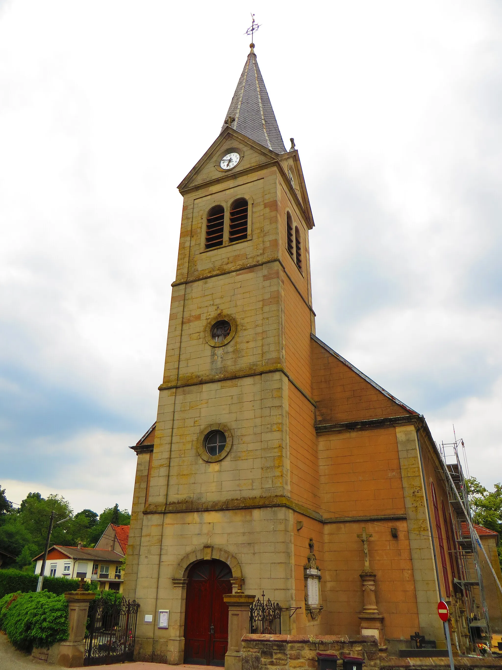
[(293, 513), (319, 509), (314, 222), (254, 45), (220, 135), (178, 188), (165, 369), (155, 429), (135, 447), (124, 594), (141, 605), (137, 658), (221, 664), (218, 594), (238, 583), (284, 607), (303, 600), (309, 549), (295, 567)]

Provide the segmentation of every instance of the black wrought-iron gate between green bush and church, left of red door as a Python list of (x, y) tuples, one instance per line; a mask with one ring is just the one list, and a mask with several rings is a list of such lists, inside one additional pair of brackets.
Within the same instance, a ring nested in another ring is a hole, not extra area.
[(132, 661), (139, 604), (135, 600), (92, 600), (86, 630), (84, 665)]

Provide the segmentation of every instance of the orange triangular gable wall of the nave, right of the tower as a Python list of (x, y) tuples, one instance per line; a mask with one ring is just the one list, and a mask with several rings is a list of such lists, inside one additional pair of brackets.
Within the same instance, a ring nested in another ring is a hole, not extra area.
[(317, 424), (417, 415), (313, 334), (311, 344)]

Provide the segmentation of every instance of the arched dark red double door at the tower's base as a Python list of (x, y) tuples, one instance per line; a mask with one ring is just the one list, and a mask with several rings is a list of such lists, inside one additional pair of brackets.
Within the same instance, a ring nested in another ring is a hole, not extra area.
[(232, 570), (223, 561), (199, 561), (188, 573), (185, 607), (185, 663), (225, 665)]

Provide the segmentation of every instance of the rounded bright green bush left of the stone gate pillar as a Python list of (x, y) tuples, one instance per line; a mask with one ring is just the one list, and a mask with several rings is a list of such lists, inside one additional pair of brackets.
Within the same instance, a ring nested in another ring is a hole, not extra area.
[(7, 594), (0, 600), (0, 629), (17, 649), (50, 647), (68, 639), (68, 603), (48, 591)]

